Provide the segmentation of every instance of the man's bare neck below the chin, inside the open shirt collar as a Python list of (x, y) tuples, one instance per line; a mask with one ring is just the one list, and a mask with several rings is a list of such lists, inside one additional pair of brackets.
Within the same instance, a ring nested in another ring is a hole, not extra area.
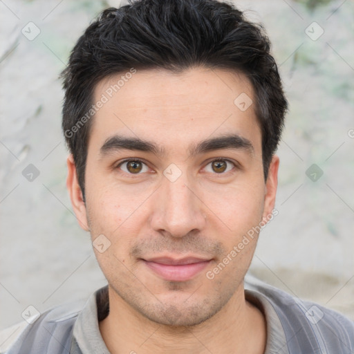
[(216, 315), (196, 326), (167, 326), (147, 319), (109, 287), (109, 315), (100, 332), (110, 353), (263, 354), (263, 313), (245, 300), (243, 283)]

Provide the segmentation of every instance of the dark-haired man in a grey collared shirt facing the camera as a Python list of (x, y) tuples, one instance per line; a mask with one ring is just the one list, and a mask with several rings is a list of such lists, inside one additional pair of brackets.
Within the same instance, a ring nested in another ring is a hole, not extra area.
[(261, 26), (214, 0), (104, 10), (63, 73), (67, 187), (108, 286), (8, 353), (353, 353), (333, 310), (250, 279), (287, 109)]

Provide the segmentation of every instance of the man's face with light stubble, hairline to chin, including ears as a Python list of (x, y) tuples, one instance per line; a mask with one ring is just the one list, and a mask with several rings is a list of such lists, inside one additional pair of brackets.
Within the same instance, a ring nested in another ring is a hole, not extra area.
[(243, 293), (257, 235), (232, 250), (271, 213), (278, 160), (265, 184), (254, 104), (234, 103), (255, 101), (244, 75), (137, 71), (109, 97), (121, 76), (95, 88), (94, 102), (109, 100), (91, 127), (86, 205), (77, 197), (74, 209), (93, 240), (101, 235), (110, 301), (160, 324), (199, 324)]

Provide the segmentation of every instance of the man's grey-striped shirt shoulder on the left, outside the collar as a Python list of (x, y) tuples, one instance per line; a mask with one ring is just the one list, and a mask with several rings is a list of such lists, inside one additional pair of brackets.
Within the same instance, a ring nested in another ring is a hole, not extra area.
[(84, 301), (73, 301), (1, 330), (0, 353), (68, 353), (73, 325), (83, 307)]

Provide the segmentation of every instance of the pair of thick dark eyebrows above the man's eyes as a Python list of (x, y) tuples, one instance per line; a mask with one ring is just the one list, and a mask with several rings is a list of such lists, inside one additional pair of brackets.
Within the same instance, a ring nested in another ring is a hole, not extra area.
[[(254, 147), (250, 140), (243, 138), (238, 134), (228, 134), (217, 138), (203, 140), (198, 142), (198, 144), (189, 145), (189, 158), (201, 153), (220, 149), (237, 149), (243, 150), (250, 155), (254, 154)], [(109, 153), (120, 150), (145, 151), (157, 156), (166, 156), (166, 150), (163, 147), (156, 145), (154, 142), (136, 137), (131, 138), (118, 135), (106, 139), (100, 149), (100, 155), (104, 157), (109, 155)]]

